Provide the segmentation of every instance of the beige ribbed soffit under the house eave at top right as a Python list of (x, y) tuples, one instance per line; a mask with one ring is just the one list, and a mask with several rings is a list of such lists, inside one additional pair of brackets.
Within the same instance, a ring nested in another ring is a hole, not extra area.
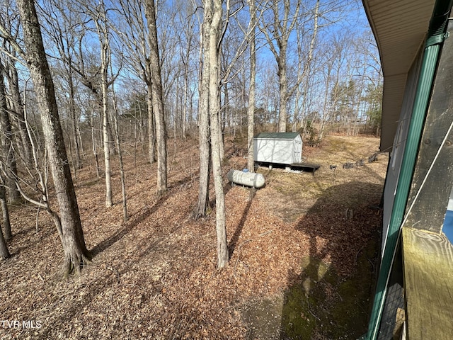
[(435, 0), (362, 0), (384, 74), (381, 150), (391, 149), (406, 77), (428, 32)]

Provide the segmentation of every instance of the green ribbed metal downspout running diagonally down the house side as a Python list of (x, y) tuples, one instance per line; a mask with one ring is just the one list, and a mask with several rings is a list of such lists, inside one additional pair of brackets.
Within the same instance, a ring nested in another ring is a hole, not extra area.
[[(365, 337), (367, 340), (375, 340), (379, 336), (379, 325), (384, 310), (387, 284), (389, 282), (396, 248), (398, 242), (401, 240), (401, 223), (403, 222), (408, 194), (411, 188), (418, 146), (420, 145), (420, 138), (423, 132), (425, 115), (428, 111), (428, 103), (431, 96), (437, 62), (440, 57), (440, 50), (445, 37), (443, 34), (443, 30), (445, 30), (447, 23), (447, 16), (445, 16), (445, 13), (448, 14), (451, 8), (451, 0), (437, 0), (432, 15), (430, 23), (431, 34), (427, 38), (427, 45), (423, 54), (423, 62), (420, 70), (417, 92), (415, 94), (411, 123), (408, 130), (408, 138), (406, 140), (403, 162), (401, 164), (394, 205), (391, 212), (389, 232), (387, 234), (384, 255), (382, 256), (381, 266), (379, 268), (379, 277), (377, 280), (376, 293), (374, 295), (372, 314), (368, 324), (368, 332)], [(442, 19), (440, 19), (440, 17), (442, 17)], [(440, 34), (440, 30), (442, 30), (442, 34)]]

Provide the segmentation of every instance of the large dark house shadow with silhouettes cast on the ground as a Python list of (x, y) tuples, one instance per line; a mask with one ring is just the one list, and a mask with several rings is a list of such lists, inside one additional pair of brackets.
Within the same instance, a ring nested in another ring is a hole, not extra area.
[(333, 186), (297, 222), (309, 238), (301, 271), (289, 271), (280, 339), (357, 339), (371, 308), (382, 186)]

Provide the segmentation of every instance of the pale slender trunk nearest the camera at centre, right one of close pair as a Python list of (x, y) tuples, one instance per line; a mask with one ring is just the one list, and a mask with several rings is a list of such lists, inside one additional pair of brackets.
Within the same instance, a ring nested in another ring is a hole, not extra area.
[[(207, 0), (210, 1), (210, 0)], [(210, 25), (210, 118), (212, 144), (212, 173), (215, 187), (217, 267), (223, 268), (228, 263), (228, 245), (226, 243), (225, 195), (222, 181), (222, 130), (220, 128), (219, 105), (219, 30), (222, 19), (222, 0), (214, 0), (212, 22)]]

